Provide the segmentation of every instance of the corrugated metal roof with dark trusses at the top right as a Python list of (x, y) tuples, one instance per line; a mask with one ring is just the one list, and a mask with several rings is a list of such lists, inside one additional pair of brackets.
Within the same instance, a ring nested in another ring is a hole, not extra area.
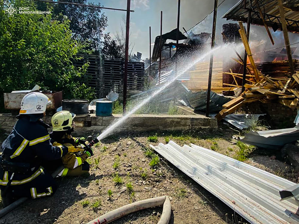
[[(251, 24), (255, 25), (264, 25), (263, 21), (260, 17), (260, 13), (258, 11), (258, 7), (263, 12), (263, 16), (266, 20), (266, 24), (269, 27), (273, 27), (274, 24), (278, 26), (280, 30), (282, 30), (282, 26), (280, 23), (280, 12), (277, 0), (259, 0), (252, 1), (252, 14), (251, 14)], [(293, 7), (289, 7), (289, 0), (283, 0), (283, 5), (285, 9), (286, 23), (287, 29), (292, 32), (299, 33), (299, 13), (298, 11), (293, 11)], [(292, 0), (291, 5), (298, 5), (299, 0)], [(227, 13), (225, 13), (222, 18), (226, 18), (227, 20), (234, 21), (243, 21), (247, 22), (248, 18), (248, 10), (244, 8), (244, 0), (240, 0), (234, 7), (232, 7)], [(249, 8), (249, 0), (246, 0), (246, 7)], [(274, 25), (274, 26), (276, 26)]]

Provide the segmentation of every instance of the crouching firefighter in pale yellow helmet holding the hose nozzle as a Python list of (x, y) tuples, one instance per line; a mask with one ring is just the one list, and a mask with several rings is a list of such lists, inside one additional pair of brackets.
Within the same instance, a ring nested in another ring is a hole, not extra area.
[(64, 155), (62, 163), (65, 166), (58, 176), (80, 176), (89, 172), (89, 163), (86, 159), (93, 155), (91, 148), (84, 147), (85, 138), (73, 138), (71, 132), (74, 131), (73, 119), (76, 115), (72, 112), (62, 110), (53, 115), (51, 119), (53, 131), (50, 133), (50, 142), (54, 146), (83, 146), (80, 152), (68, 153)]

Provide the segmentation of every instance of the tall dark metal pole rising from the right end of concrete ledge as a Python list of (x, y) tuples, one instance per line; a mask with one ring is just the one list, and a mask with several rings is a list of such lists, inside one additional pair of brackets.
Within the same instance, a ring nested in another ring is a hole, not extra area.
[[(214, 17), (213, 17), (213, 30), (212, 30), (212, 44), (211, 50), (213, 50), (215, 45), (215, 34), (216, 34), (216, 19), (217, 19), (217, 5), (218, 0), (214, 2)], [(208, 80), (208, 93), (207, 93), (207, 110), (206, 110), (206, 117), (209, 116), (210, 113), (210, 94), (211, 94), (211, 83), (212, 83), (212, 72), (213, 72), (213, 53), (211, 52), (210, 56), (210, 69), (209, 69), (209, 80)]]

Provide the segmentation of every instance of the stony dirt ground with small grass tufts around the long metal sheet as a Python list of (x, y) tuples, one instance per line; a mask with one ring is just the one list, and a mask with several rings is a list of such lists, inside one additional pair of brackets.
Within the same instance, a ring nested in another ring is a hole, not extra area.
[[(94, 147), (94, 156), (89, 158), (90, 175), (57, 179), (59, 188), (53, 196), (27, 200), (2, 217), (0, 223), (88, 223), (128, 203), (163, 195), (171, 200), (170, 223), (246, 223), (164, 158), (160, 157), (156, 167), (149, 166), (149, 144), (166, 143), (169, 139), (180, 145), (194, 143), (236, 157), (240, 148), (233, 135), (240, 133), (228, 126), (206, 131), (161, 132), (156, 135), (157, 142), (149, 142), (147, 137), (155, 136), (152, 132), (112, 135)], [(292, 167), (273, 160), (275, 153), (248, 149), (245, 162), (298, 183), (298, 174), (292, 172)], [(113, 223), (154, 224), (161, 213), (161, 207), (149, 208)]]

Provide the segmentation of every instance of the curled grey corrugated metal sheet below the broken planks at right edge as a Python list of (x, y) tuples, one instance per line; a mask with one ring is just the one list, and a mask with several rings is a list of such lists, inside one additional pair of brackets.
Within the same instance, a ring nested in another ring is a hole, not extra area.
[(276, 149), (299, 140), (299, 126), (259, 132), (250, 131), (244, 138), (238, 140), (260, 148)]

